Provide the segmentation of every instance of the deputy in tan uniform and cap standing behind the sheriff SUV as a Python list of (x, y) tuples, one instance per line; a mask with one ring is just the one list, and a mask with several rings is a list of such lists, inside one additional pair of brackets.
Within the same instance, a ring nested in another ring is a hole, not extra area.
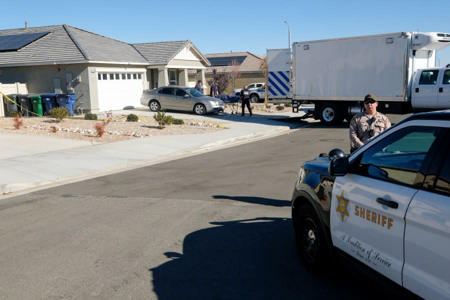
[(376, 111), (378, 102), (374, 94), (364, 97), (365, 111), (356, 114), (350, 121), (350, 152), (359, 148), (373, 136), (390, 127), (390, 121), (382, 113)]

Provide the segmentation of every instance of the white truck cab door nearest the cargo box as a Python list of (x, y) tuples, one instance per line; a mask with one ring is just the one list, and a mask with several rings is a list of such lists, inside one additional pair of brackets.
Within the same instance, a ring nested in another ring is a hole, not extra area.
[(413, 108), (438, 108), (437, 76), (439, 70), (422, 70), (418, 84), (412, 89)]

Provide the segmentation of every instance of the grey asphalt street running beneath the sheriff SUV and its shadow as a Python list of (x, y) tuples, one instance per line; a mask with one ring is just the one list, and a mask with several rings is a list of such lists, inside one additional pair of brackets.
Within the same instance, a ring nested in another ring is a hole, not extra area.
[(356, 299), (370, 278), (297, 259), (290, 196), (301, 163), (348, 124), (43, 189), (0, 204), (1, 299)]

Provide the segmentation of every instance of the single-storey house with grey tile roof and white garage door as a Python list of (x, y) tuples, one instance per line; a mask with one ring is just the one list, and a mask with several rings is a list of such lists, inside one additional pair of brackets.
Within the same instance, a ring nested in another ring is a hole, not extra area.
[[(67, 24), (0, 30), (0, 83), (75, 93), (99, 112), (142, 106), (143, 89), (204, 82), (207, 58), (190, 40), (130, 44)], [(188, 70), (195, 70), (189, 82)]]

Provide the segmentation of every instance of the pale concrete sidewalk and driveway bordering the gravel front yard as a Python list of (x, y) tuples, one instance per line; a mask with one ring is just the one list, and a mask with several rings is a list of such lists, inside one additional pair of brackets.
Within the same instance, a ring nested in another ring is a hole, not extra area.
[[(143, 116), (154, 114), (146, 107), (113, 111), (114, 116), (129, 113)], [(149, 136), (98, 144), (0, 133), (0, 199), (270, 136), (298, 126), (298, 123), (276, 118), (301, 116), (304, 112), (253, 113), (251, 117), (229, 113), (204, 116), (176, 112), (167, 114), (183, 119), (217, 119), (230, 128), (204, 134)]]

